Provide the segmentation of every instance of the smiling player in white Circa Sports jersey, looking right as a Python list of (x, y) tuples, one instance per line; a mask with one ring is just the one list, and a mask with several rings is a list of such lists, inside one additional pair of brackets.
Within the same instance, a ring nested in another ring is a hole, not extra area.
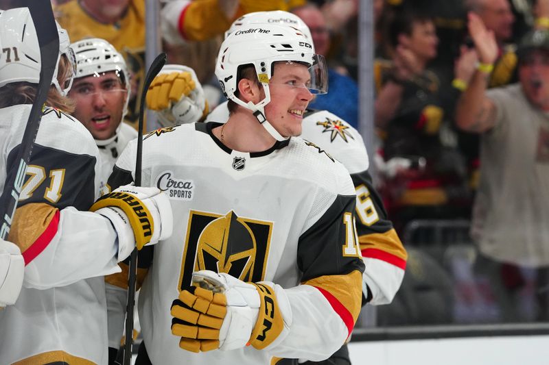
[[(295, 29), (235, 32), (216, 67), (233, 101), (229, 121), (168, 127), (143, 141), (153, 151), (143, 161), (148, 185), (167, 192), (185, 224), (154, 249), (137, 364), (323, 360), (349, 336), (364, 269), (354, 188), (339, 162), (294, 137), (309, 90), (324, 90), (322, 61)], [(134, 155), (130, 142), (110, 186), (131, 181)], [(196, 312), (205, 310), (191, 303), (196, 296), (213, 299), (220, 317)]]

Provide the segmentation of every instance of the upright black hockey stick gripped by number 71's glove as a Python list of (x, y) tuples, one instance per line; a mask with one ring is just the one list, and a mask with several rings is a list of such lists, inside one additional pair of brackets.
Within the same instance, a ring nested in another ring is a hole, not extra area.
[[(166, 63), (166, 53), (160, 53), (147, 71), (141, 101), (139, 103), (139, 127), (137, 129), (137, 158), (135, 160), (135, 186), (141, 186), (141, 156), (143, 154), (143, 114), (145, 111), (145, 97), (149, 86)], [(130, 273), (128, 275), (128, 302), (126, 304), (126, 342), (124, 342), (124, 365), (132, 363), (133, 344), (133, 309), (135, 306), (135, 281), (137, 278), (137, 249), (130, 255)]]

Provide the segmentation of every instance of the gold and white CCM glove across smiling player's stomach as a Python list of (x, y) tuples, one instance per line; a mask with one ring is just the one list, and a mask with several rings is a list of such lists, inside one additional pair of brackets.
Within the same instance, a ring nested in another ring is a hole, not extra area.
[(182, 349), (265, 349), (288, 333), (290, 303), (281, 286), (245, 283), (225, 273), (201, 270), (172, 303), (172, 333)]

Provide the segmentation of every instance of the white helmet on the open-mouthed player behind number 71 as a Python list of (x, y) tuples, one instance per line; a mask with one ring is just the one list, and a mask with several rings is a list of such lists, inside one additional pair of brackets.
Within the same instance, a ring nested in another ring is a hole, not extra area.
[(76, 75), (75, 79), (114, 71), (126, 87), (126, 103), (122, 119), (128, 112), (128, 103), (130, 102), (130, 73), (126, 66), (124, 57), (102, 38), (88, 38), (78, 40), (71, 45), (76, 57)]

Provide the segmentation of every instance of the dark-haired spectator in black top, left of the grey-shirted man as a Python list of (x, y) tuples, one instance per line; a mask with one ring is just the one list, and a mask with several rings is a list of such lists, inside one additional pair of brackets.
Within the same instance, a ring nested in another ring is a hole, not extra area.
[[(377, 77), (381, 86), (375, 101), (375, 123), (384, 139), (384, 160), (390, 165), (404, 158), (408, 165), (401, 171), (386, 171), (385, 195), (393, 210), (390, 216), (400, 227), (412, 216), (454, 217), (465, 208), (457, 205), (467, 197), (465, 171), (455, 145), (441, 138), (441, 128), (448, 114), (452, 115), (460, 91), (455, 84), (441, 85), (427, 68), (438, 45), (430, 17), (415, 12), (399, 14), (390, 34), (396, 51), (392, 67)], [(467, 65), (474, 61), (474, 52), (462, 49), (456, 75), (468, 80), (474, 69)], [(389, 165), (380, 166), (380, 170)]]

